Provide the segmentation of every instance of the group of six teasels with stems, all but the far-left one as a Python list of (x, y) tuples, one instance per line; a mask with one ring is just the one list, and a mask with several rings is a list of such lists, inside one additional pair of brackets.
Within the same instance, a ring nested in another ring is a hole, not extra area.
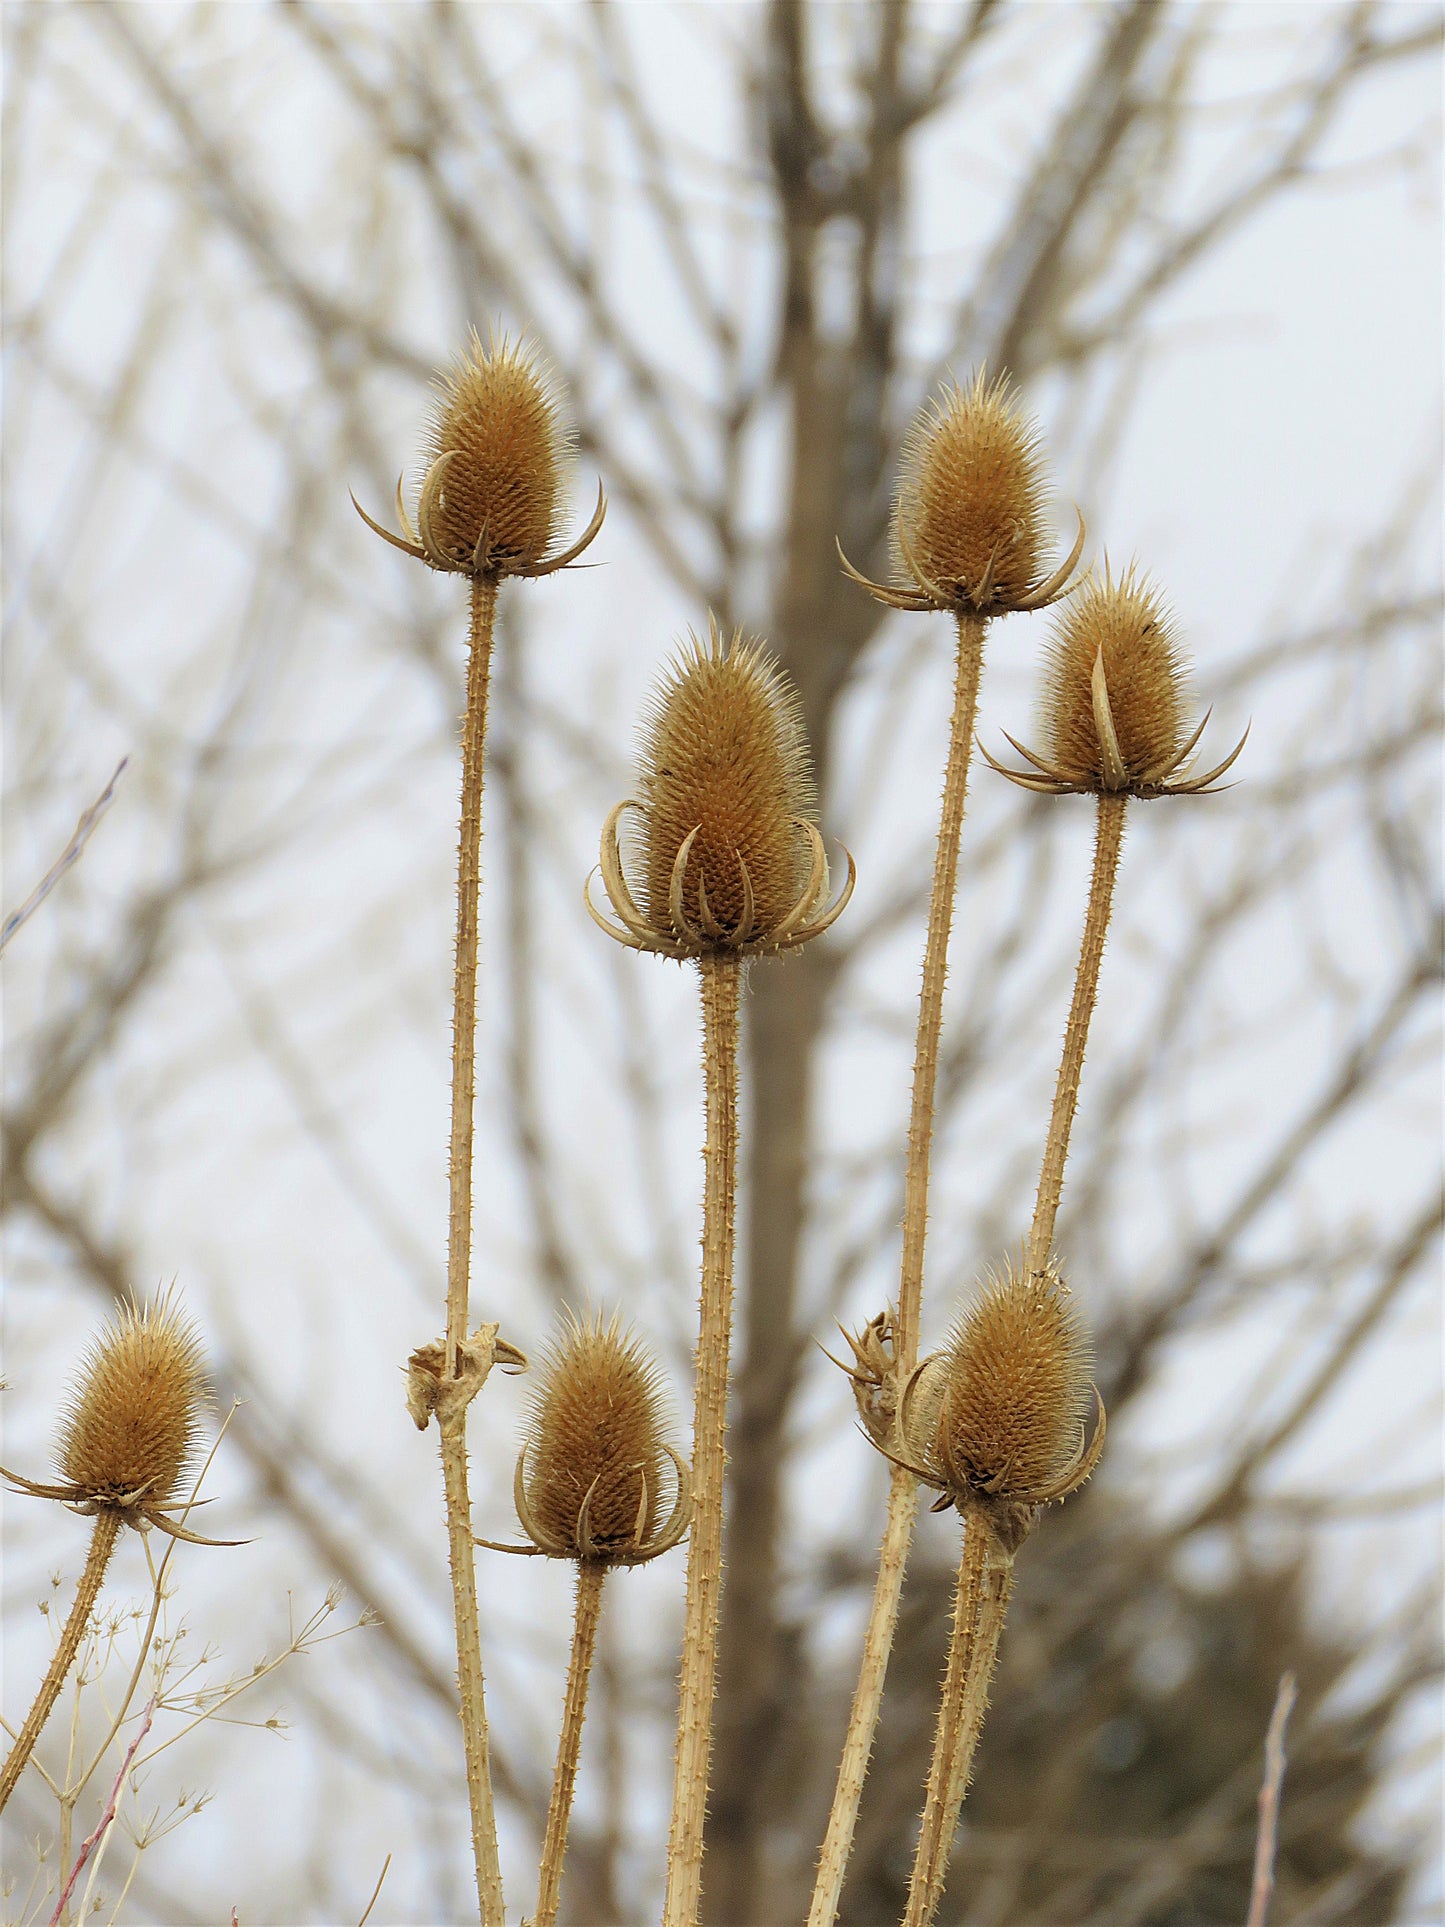
[[(401, 484), (403, 534), (360, 511), (393, 547), (472, 582), (447, 1337), (412, 1355), (408, 1397), (418, 1424), (435, 1414), (441, 1426), (462, 1729), (478, 1894), (487, 1927), (503, 1921), (503, 1902), (470, 1557), (472, 1544), (493, 1542), (470, 1540), (460, 1428), (466, 1401), (489, 1366), (522, 1366), (524, 1360), (497, 1337), (495, 1326), (466, 1333), (482, 742), (499, 582), (574, 563), (601, 526), (605, 497), (599, 489), (590, 526), (574, 543), (561, 545), (568, 455), (557, 391), (536, 355), (505, 341), (484, 349), (472, 337), (439, 385), (414, 520)], [(848, 1335), (854, 1353), (848, 1370), (863, 1426), (894, 1468), (888, 1524), (809, 1927), (830, 1927), (836, 1915), (919, 1484), (938, 1493), (938, 1507), (956, 1507), (965, 1528), (907, 1927), (925, 1927), (936, 1910), (986, 1705), (1013, 1555), (1040, 1509), (1083, 1484), (1104, 1443), (1104, 1409), (1090, 1386), (1089, 1343), (1054, 1256), (1052, 1233), (1117, 873), (1123, 805), (1129, 798), (1200, 794), (1239, 753), (1235, 750), (1208, 773), (1193, 771), (1204, 725), (1189, 730), (1183, 657), (1158, 590), (1133, 568), (1116, 580), (1108, 563), (1102, 574), (1079, 580), (1083, 518), (1071, 551), (1050, 568), (1044, 561), (1046, 497), (1037, 432), (1006, 382), (979, 376), (925, 410), (907, 439), (892, 528), (892, 580), (873, 582), (842, 557), (846, 572), (886, 607), (952, 615), (959, 646), (919, 1004), (900, 1295), (896, 1307)], [(1098, 798), (1094, 875), (1038, 1199), (1021, 1262), (994, 1274), (961, 1310), (948, 1343), (919, 1360), (942, 983), (985, 630), (1000, 615), (1060, 601), (1065, 607), (1048, 657), (1042, 748), (1013, 744), (1023, 757), (1021, 769), (1008, 769), (985, 752), (994, 769), (1029, 790)], [(543, 1359), (516, 1463), (514, 1501), (526, 1544), (497, 1549), (568, 1559), (576, 1567), (572, 1663), (534, 1914), (536, 1927), (551, 1927), (603, 1576), (611, 1567), (659, 1557), (688, 1536), (663, 1919), (665, 1927), (692, 1927), (701, 1890), (722, 1565), (742, 973), (755, 958), (823, 935), (854, 888), (848, 858), (846, 881), (828, 902), (828, 863), (798, 698), (759, 642), (742, 634), (726, 638), (709, 624), (705, 638), (692, 636), (682, 646), (644, 719), (636, 792), (603, 827), (597, 873), (611, 915), (597, 908), (590, 881), (584, 894), (591, 919), (626, 948), (696, 964), (701, 979), (707, 1141), (692, 1461), (665, 1438), (657, 1374), (642, 1343), (617, 1322), (572, 1320)]]

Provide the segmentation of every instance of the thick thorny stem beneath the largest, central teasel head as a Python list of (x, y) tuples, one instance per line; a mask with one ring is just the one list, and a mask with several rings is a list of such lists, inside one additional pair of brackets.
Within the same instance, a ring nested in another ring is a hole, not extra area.
[(728, 1333), (738, 1164), (738, 990), (730, 958), (703, 958), (707, 1148), (697, 1387), (692, 1420), (692, 1536), (682, 1619), (678, 1744), (667, 1844), (663, 1927), (694, 1927), (701, 1898), (707, 1763), (713, 1744), (717, 1615), (722, 1597), (722, 1474), (726, 1470)]

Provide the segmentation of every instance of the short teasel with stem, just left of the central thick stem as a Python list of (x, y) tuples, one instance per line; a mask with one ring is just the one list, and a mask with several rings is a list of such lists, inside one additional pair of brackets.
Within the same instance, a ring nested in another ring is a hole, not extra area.
[(568, 1316), (543, 1355), (516, 1459), (516, 1517), (532, 1544), (478, 1540), (495, 1551), (576, 1561), (572, 1657), (532, 1927), (557, 1919), (603, 1578), (611, 1567), (670, 1551), (692, 1517), (692, 1478), (665, 1434), (663, 1384), (642, 1341), (617, 1316), (609, 1324)]

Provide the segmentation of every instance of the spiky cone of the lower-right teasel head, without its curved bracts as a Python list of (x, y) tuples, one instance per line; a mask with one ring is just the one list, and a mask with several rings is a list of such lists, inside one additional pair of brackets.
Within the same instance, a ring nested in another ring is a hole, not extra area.
[(954, 1491), (1037, 1505), (1079, 1453), (1089, 1341), (1052, 1268), (992, 1276), (944, 1351), (934, 1463)]

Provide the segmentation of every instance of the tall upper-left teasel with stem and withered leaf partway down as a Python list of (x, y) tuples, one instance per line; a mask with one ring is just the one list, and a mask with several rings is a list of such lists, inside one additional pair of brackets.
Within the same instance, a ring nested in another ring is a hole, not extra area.
[[(482, 1634), (476, 1605), (472, 1505), (466, 1474), (466, 1411), (493, 1360), (512, 1347), (497, 1343), (495, 1328), (468, 1339), (472, 1253), (472, 1112), (476, 1100), (476, 967), (478, 896), (482, 884), (482, 784), (486, 767), (487, 682), (497, 586), (503, 576), (545, 576), (588, 547), (607, 509), (597, 511), (568, 549), (549, 553), (557, 536), (570, 441), (555, 393), (526, 345), (472, 333), (466, 351), (437, 382), (437, 407), (428, 436), (428, 470), (412, 524), (397, 482), (403, 536), (381, 528), (356, 503), (356, 513), (383, 541), (449, 574), (470, 576), (472, 620), (466, 653), (466, 715), (462, 723), (462, 802), (457, 850), (457, 975), (451, 1039), (451, 1162), (447, 1226), (447, 1332), (439, 1360), (432, 1347), (412, 1353), (408, 1403), (420, 1426), (435, 1412), (441, 1434), (441, 1478), (447, 1501), (457, 1680), (462, 1748), (472, 1813), (472, 1858), (486, 1927), (505, 1927), (497, 1819), (491, 1794)], [(484, 1337), (486, 1333), (486, 1337)], [(478, 1341), (482, 1341), (478, 1345)], [(522, 1360), (524, 1362), (524, 1360)]]

